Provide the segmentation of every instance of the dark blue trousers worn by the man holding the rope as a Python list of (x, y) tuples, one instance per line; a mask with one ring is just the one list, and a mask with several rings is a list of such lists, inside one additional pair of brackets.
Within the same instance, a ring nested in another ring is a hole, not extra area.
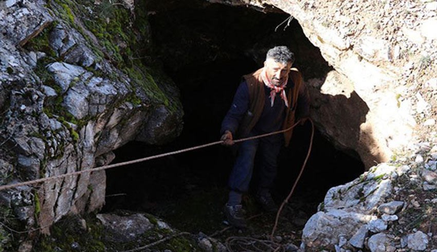
[(229, 188), (235, 192), (249, 190), (255, 156), (258, 153), (259, 159), (257, 160), (260, 160), (261, 163), (258, 191), (270, 189), (276, 177), (278, 155), (283, 142), (282, 134), (241, 142), (229, 177)]

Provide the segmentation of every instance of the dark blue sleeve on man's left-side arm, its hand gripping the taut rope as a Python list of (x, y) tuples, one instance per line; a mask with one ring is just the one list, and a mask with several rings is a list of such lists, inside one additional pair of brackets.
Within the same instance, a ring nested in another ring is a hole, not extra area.
[(235, 135), (238, 126), (243, 119), (249, 107), (249, 88), (246, 81), (240, 83), (236, 89), (231, 107), (222, 121), (220, 133), (223, 134), (226, 130)]

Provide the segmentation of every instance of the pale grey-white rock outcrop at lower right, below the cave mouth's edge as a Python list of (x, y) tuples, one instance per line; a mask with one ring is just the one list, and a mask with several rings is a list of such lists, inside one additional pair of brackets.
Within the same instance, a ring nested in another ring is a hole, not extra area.
[(392, 194), (391, 179), (396, 169), (387, 165), (373, 167), (354, 181), (331, 188), (314, 214), (305, 224), (302, 242), (308, 251), (332, 247), (340, 238), (349, 242), (344, 248), (362, 247), (368, 231), (381, 232), (387, 223), (378, 219), (374, 210)]

